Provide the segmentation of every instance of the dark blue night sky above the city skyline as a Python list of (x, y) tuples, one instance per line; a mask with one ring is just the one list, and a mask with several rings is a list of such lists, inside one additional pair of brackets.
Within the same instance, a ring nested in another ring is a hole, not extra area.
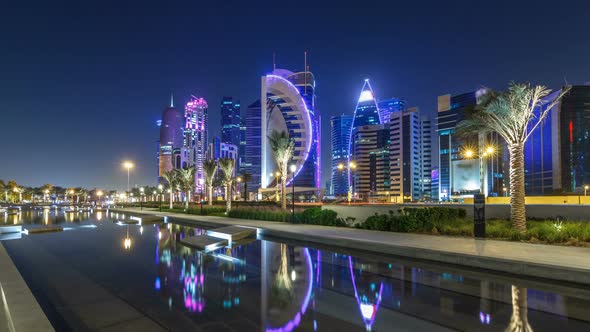
[(132, 184), (154, 184), (156, 120), (170, 92), (178, 105), (204, 97), (210, 136), (220, 135), (222, 96), (243, 108), (259, 98), (273, 51), (277, 67), (291, 70), (302, 70), (309, 52), (322, 184), (329, 118), (352, 114), (366, 77), (378, 98), (429, 114), (438, 95), (482, 85), (590, 81), (586, 1), (253, 3), (4, 1), (0, 179), (123, 189), (120, 163), (129, 159)]

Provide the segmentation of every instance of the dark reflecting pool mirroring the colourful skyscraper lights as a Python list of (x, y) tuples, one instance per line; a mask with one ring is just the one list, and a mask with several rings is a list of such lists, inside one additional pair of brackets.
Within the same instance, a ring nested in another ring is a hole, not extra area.
[(590, 330), (590, 291), (571, 285), (264, 238), (204, 253), (179, 242), (202, 228), (130, 218), (0, 215), (64, 227), (2, 241), (56, 330)]

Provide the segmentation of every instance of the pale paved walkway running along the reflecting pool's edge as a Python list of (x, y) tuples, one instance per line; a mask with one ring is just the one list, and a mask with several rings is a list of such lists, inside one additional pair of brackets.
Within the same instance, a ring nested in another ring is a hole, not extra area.
[(590, 285), (590, 248), (497, 240), (392, 233), (224, 217), (161, 213), (137, 208), (119, 212), (169, 216), (204, 226), (256, 227), (264, 236), (483, 268), (528, 277)]

